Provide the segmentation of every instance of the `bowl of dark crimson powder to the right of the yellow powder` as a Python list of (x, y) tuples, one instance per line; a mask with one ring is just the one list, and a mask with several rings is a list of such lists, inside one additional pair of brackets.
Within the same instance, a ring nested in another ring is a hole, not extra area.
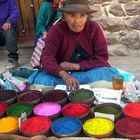
[(116, 122), (115, 131), (123, 138), (140, 139), (140, 120), (123, 118)]

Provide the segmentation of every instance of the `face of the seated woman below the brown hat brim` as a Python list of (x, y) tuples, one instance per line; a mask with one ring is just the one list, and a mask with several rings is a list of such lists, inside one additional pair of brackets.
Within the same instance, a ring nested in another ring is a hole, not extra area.
[(84, 29), (88, 15), (85, 13), (64, 13), (65, 21), (73, 32), (81, 32)]

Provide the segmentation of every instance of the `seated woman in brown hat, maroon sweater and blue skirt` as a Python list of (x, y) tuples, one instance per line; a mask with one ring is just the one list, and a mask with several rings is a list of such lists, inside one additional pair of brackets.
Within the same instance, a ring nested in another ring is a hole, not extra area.
[(66, 0), (58, 10), (64, 21), (48, 32), (42, 69), (34, 72), (29, 82), (47, 86), (66, 84), (68, 90), (76, 90), (80, 84), (123, 76), (108, 63), (106, 38), (101, 26), (88, 18), (94, 12), (88, 7), (88, 0)]

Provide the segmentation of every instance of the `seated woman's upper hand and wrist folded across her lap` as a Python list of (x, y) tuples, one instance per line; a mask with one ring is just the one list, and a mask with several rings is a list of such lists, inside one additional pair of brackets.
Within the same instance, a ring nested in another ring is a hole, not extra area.
[(70, 63), (70, 62), (62, 62), (60, 63), (60, 66), (62, 67), (63, 70), (65, 71), (78, 71), (80, 70), (80, 65), (78, 63)]

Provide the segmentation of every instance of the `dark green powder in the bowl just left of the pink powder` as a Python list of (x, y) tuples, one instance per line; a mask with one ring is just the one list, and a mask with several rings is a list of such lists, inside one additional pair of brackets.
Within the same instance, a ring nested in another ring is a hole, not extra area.
[(20, 117), (21, 114), (24, 112), (26, 112), (27, 114), (31, 113), (32, 109), (33, 109), (32, 104), (17, 103), (17, 104), (13, 104), (13, 105), (9, 106), (6, 113), (7, 113), (7, 115)]

